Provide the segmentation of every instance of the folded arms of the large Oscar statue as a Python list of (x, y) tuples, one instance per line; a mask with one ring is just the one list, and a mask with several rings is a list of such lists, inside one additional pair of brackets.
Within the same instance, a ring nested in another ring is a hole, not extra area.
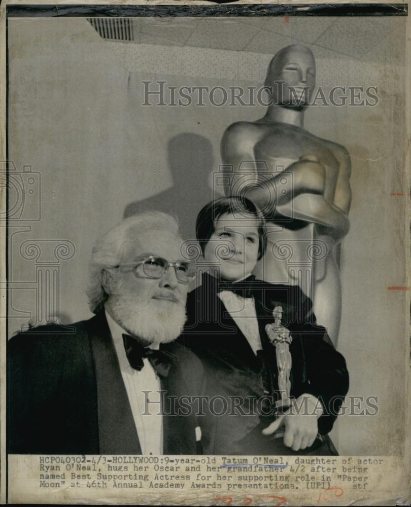
[(227, 177), (225, 194), (247, 197), (272, 219), (277, 214), (293, 216), (299, 220), (318, 223), (336, 237), (347, 234), (348, 211), (342, 206), (347, 207), (347, 202), (351, 200), (350, 159), (346, 156), (348, 152), (333, 144), (333, 152), (336, 147), (340, 149), (338, 154), (345, 175), (338, 175), (342, 188), (335, 192), (335, 199), (340, 205), (334, 205), (325, 199), (326, 168), (316, 157), (307, 154), (284, 172), (272, 176), (266, 162), (255, 159), (254, 147), (261, 135), (260, 126), (245, 122), (233, 123), (224, 132), (221, 158), (226, 166), (223, 171)]

